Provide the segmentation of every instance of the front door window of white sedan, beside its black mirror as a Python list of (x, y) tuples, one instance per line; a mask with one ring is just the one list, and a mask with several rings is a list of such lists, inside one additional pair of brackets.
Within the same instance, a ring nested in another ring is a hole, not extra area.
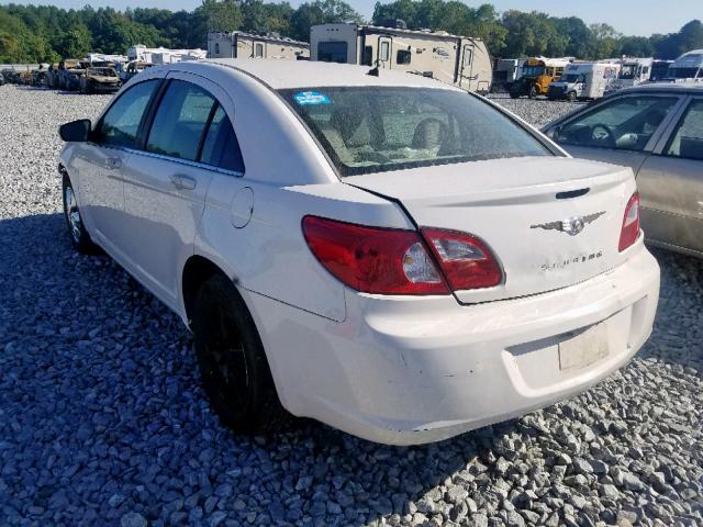
[(136, 147), (136, 135), (159, 80), (147, 80), (126, 90), (102, 117), (98, 126), (97, 143)]

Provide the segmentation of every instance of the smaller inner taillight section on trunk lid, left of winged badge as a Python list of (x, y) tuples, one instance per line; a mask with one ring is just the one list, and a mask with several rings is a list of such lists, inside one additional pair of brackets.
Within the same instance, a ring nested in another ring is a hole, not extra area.
[(476, 236), (440, 228), (423, 228), (422, 235), (454, 291), (492, 288), (502, 282), (498, 260)]

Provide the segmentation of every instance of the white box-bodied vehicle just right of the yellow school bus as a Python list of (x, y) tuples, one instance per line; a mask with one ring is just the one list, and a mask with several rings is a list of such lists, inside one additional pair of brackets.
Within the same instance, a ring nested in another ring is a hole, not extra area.
[(549, 85), (549, 99), (600, 99), (617, 78), (621, 65), (606, 63), (572, 63), (563, 69), (561, 78)]

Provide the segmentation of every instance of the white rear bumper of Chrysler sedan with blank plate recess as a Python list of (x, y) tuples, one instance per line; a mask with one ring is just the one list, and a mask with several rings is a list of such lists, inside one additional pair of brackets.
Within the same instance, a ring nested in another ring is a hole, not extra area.
[[(290, 412), (377, 442), (422, 444), (550, 405), (625, 365), (659, 296), (656, 260), (641, 240), (631, 250), (587, 282), (509, 301), (349, 291), (342, 323), (245, 295)], [(588, 329), (606, 355), (565, 344)]]

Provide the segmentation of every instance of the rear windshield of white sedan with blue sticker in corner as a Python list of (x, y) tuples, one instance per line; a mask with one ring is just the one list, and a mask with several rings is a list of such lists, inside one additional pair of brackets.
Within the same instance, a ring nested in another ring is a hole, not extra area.
[(280, 93), (342, 176), (553, 155), (516, 122), (461, 91), (335, 87)]

